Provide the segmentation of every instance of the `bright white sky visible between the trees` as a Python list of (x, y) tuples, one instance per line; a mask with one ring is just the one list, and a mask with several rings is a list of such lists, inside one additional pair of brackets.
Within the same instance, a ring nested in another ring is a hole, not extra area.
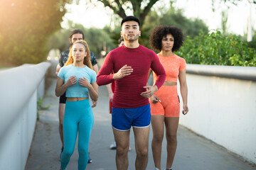
[[(164, 3), (164, 1), (166, 1)], [(160, 0), (155, 5), (161, 6), (166, 4), (167, 0)], [(238, 3), (238, 6), (229, 4), (230, 8), (224, 4), (215, 3), (215, 12), (212, 11), (211, 0), (177, 0), (174, 4), (177, 8), (183, 8), (183, 14), (187, 18), (200, 18), (208, 28), (217, 29), (221, 28), (221, 12), (228, 11), (228, 32), (238, 35), (247, 33), (247, 18), (249, 16), (249, 2), (244, 0)], [(80, 4), (67, 4), (68, 12), (63, 17), (62, 26), (65, 28), (67, 21), (80, 23), (85, 28), (103, 28), (110, 26), (112, 19), (112, 11), (110, 8), (105, 8), (102, 3), (97, 2), (97, 6), (88, 7), (85, 0), (80, 0)], [(127, 13), (131, 15), (132, 13)], [(85, 16), (85, 17), (82, 17)], [(90, 16), (90, 17), (87, 17)], [(252, 27), (256, 29), (256, 5), (252, 5)]]

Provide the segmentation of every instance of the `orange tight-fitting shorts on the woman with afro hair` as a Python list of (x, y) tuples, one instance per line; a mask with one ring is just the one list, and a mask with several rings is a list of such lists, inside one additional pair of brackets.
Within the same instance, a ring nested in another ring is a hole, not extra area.
[(177, 86), (161, 86), (156, 91), (156, 96), (161, 102), (152, 103), (149, 98), (151, 115), (164, 115), (164, 117), (179, 117), (180, 102), (177, 93)]

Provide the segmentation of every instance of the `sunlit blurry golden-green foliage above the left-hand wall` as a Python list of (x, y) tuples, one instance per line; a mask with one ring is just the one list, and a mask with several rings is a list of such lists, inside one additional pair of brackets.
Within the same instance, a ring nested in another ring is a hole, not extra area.
[(16, 65), (45, 61), (48, 36), (60, 28), (68, 1), (1, 0), (1, 61)]

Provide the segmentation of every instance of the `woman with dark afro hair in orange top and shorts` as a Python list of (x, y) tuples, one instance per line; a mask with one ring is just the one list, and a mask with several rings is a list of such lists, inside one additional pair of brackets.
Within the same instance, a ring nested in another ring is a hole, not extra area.
[[(177, 147), (177, 129), (180, 113), (180, 102), (177, 93), (177, 79), (180, 82), (183, 111), (188, 113), (188, 87), (186, 84), (186, 61), (174, 54), (183, 45), (183, 34), (180, 28), (174, 26), (158, 26), (150, 36), (151, 47), (159, 50), (159, 60), (166, 71), (166, 81), (163, 86), (149, 99), (151, 107), (151, 126), (155, 169), (161, 169), (161, 145), (166, 127), (167, 160), (166, 170), (172, 169)], [(151, 74), (151, 70), (149, 71)], [(155, 74), (153, 77), (155, 81)]]

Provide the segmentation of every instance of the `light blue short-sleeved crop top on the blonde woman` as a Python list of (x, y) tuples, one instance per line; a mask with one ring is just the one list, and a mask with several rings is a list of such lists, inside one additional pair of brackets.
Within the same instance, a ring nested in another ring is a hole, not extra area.
[(87, 98), (88, 97), (88, 89), (84, 86), (81, 86), (78, 83), (78, 79), (85, 77), (91, 84), (96, 81), (96, 72), (89, 67), (75, 67), (72, 64), (61, 67), (60, 72), (58, 73), (58, 77), (63, 79), (64, 82), (68, 80), (71, 76), (76, 76), (77, 81), (76, 84), (69, 86), (65, 91), (66, 97), (78, 97), (78, 98)]

